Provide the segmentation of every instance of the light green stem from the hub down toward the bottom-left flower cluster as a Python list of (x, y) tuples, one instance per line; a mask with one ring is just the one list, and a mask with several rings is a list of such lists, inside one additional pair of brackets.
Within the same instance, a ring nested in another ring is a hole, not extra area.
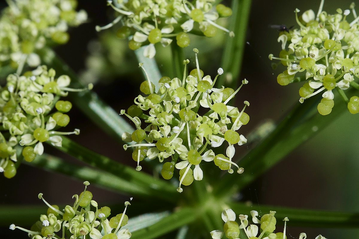
[(198, 214), (196, 209), (191, 207), (184, 207), (171, 215), (161, 219), (157, 223), (135, 231), (132, 233), (131, 239), (152, 239), (158, 236), (167, 234), (177, 228), (190, 224), (197, 219)]

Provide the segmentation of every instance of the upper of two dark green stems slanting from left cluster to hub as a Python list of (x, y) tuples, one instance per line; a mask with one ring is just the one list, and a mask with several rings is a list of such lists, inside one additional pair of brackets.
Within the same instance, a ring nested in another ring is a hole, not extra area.
[[(164, 199), (170, 202), (174, 202), (177, 199), (176, 187), (170, 185), (160, 179), (156, 179), (146, 173), (138, 172), (135, 169), (125, 166), (121, 163), (113, 161), (112, 159), (105, 157), (101, 154), (95, 153), (66, 137), (62, 137), (62, 147), (58, 148), (61, 151), (74, 156), (75, 158), (90, 164), (91, 166), (101, 169), (105, 172), (109, 172), (115, 175), (121, 180), (125, 181), (125, 185), (128, 184), (133, 187), (140, 187), (151, 196), (157, 196), (160, 199)], [(107, 173), (104, 173), (108, 175)], [(88, 180), (89, 181), (89, 180)], [(136, 190), (126, 188), (130, 193), (136, 193)], [(130, 191), (129, 191), (130, 190)], [(143, 191), (142, 190), (142, 191)], [(135, 192), (132, 192), (135, 191)]]

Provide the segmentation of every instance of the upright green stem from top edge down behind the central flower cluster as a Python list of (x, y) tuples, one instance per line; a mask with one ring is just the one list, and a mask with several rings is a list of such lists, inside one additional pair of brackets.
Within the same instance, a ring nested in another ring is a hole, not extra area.
[[(244, 54), (248, 19), (250, 16), (251, 0), (233, 0), (229, 30), (233, 30), (234, 37), (228, 35), (223, 52), (221, 67), (225, 77), (220, 77), (217, 86), (227, 85), (236, 88), (237, 78), (241, 72)], [(229, 75), (230, 74), (230, 75)]]

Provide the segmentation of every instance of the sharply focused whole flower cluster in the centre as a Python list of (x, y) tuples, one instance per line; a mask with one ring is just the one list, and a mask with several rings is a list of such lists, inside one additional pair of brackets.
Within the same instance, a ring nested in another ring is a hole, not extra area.
[[(186, 77), (186, 64), (183, 61), (185, 72), (183, 78), (162, 77), (159, 80), (159, 89), (148, 79), (141, 83), (140, 90), (148, 96), (139, 95), (135, 98), (135, 105), (121, 111), (135, 124), (136, 130), (123, 134), (123, 140), (134, 142), (125, 144), (125, 150), (134, 147), (132, 158), (137, 161), (136, 170), (141, 170), (139, 162), (144, 158), (158, 158), (163, 162), (169, 158), (169, 162), (163, 164), (161, 174), (163, 178), (170, 179), (174, 168), (180, 170), (180, 184), (177, 191), (182, 192), (181, 185), (190, 185), (193, 180), (202, 180), (203, 172), (200, 168), (202, 161), (214, 161), (215, 165), (222, 170), (233, 173), (232, 165), (238, 168), (232, 161), (234, 145), (242, 145), (247, 142), (243, 135), (236, 130), (249, 121), (248, 114), (244, 109), (249, 105), (244, 101), (244, 107), (239, 110), (230, 106), (229, 101), (237, 94), (247, 80), (235, 91), (231, 88), (214, 88), (223, 69), (218, 69), (218, 75), (211, 79), (204, 76), (200, 70), (196, 52), (196, 69)], [(141, 64), (140, 64), (141, 66)], [(148, 78), (148, 77), (147, 77)], [(200, 107), (201, 106), (201, 107)], [(207, 111), (199, 114), (199, 111)], [(147, 114), (144, 111), (149, 111)], [(145, 121), (142, 126), (141, 119)], [(213, 152), (211, 148), (219, 147), (224, 142), (228, 143), (226, 156)], [(192, 170), (193, 168), (193, 170)]]

